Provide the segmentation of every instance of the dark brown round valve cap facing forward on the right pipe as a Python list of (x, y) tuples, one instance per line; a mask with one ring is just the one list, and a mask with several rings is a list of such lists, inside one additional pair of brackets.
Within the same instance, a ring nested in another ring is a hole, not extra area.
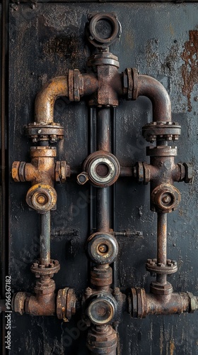
[(180, 200), (180, 191), (175, 186), (161, 184), (151, 192), (151, 211), (163, 213), (175, 211)]

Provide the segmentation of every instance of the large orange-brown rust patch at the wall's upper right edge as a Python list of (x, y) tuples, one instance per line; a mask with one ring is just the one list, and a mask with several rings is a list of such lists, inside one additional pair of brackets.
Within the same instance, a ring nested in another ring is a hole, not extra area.
[(188, 111), (192, 111), (190, 95), (195, 84), (198, 83), (198, 31), (189, 32), (190, 40), (184, 45), (184, 51), (181, 54), (185, 64), (182, 65), (182, 94), (187, 97)]

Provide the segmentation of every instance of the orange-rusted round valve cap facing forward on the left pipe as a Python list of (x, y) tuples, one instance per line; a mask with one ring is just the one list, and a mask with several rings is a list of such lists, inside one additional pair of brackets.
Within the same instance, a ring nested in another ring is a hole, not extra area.
[(56, 206), (57, 192), (50, 185), (35, 184), (28, 190), (26, 202), (37, 212), (45, 213)]

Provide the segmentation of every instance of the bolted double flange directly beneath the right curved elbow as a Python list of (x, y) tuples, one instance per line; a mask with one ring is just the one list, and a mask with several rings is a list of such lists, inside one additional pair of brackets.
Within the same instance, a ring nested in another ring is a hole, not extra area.
[(153, 142), (161, 138), (164, 141), (177, 141), (181, 134), (181, 126), (175, 122), (151, 122), (142, 127), (146, 141)]

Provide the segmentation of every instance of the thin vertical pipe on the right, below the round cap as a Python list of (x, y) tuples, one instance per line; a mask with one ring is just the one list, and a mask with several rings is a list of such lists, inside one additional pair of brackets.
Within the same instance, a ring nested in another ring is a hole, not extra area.
[[(157, 263), (166, 265), (167, 259), (167, 213), (158, 212), (157, 227)], [(158, 275), (156, 277), (158, 283), (165, 285), (166, 275)]]

